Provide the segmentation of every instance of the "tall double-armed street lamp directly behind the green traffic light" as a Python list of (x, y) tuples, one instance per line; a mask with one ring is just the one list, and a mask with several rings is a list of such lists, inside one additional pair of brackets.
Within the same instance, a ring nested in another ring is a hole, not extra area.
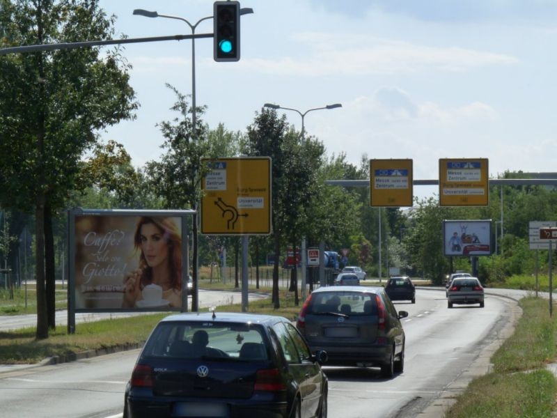
[[(252, 8), (241, 8), (240, 15), (247, 15), (249, 13), (253, 13)], [(144, 16), (144, 17), (166, 17), (167, 19), (175, 19), (181, 20), (185, 22), (189, 28), (191, 29), (191, 133), (194, 139), (196, 138), (196, 122), (197, 122), (197, 114), (196, 114), (196, 38), (195, 32), (197, 25), (203, 22), (203, 20), (212, 19), (213, 16), (205, 16), (198, 20), (195, 24), (191, 24), (188, 20), (184, 19), (183, 17), (178, 16), (171, 16), (171, 15), (159, 15), (156, 11), (150, 12), (149, 10), (144, 9), (135, 9), (134, 15)], [(195, 173), (195, 177), (197, 177), (197, 173)], [(194, 185), (196, 182), (196, 178), (194, 178)], [(198, 311), (199, 309), (199, 301), (198, 301), (198, 292), (197, 292), (197, 284), (198, 284), (198, 264), (199, 264), (199, 254), (198, 254), (198, 216), (197, 216), (197, 208), (196, 213), (193, 215), (193, 222), (194, 222), (194, 231), (193, 232), (193, 247), (194, 247), (194, 265), (192, 268), (193, 277), (194, 277), (194, 286), (195, 286), (195, 295), (193, 297), (193, 304), (192, 310)], [(187, 272), (189, 274), (189, 272)]]

